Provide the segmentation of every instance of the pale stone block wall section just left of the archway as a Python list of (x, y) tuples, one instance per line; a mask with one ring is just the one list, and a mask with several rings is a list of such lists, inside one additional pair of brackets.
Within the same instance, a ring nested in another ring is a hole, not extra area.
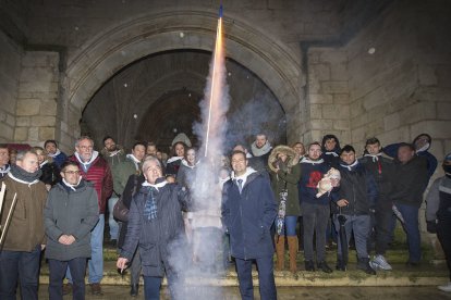
[(53, 139), (57, 124), (59, 54), (27, 51), (22, 57), (16, 104), (15, 142), (41, 145)]

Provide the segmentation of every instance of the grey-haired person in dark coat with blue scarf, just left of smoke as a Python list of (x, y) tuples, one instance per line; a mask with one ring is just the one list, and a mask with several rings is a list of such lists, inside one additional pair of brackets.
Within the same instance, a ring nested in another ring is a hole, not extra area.
[(184, 187), (164, 180), (157, 158), (146, 159), (143, 174), (146, 182), (132, 200), (125, 242), (120, 249), (117, 266), (123, 271), (138, 247), (145, 299), (160, 299), (164, 273), (171, 299), (180, 299), (184, 286), (182, 273), (187, 261), (182, 210), (191, 204), (188, 192)]

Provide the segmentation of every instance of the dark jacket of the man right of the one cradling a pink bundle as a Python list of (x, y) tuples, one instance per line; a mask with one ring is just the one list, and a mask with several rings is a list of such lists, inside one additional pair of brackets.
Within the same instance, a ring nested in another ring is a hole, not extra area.
[[(345, 165), (341, 162), (339, 171), (341, 182), (338, 200), (346, 199), (349, 202), (346, 207), (341, 208), (341, 213), (348, 215), (369, 214), (370, 210), (376, 208), (378, 198), (377, 185), (373, 175), (358, 161), (352, 165)], [(336, 207), (336, 213), (339, 213), (339, 208)]]

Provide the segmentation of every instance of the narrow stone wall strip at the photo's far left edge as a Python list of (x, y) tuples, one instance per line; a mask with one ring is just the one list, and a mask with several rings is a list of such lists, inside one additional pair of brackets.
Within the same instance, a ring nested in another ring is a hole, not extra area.
[(22, 49), (0, 32), (0, 142), (14, 140)]

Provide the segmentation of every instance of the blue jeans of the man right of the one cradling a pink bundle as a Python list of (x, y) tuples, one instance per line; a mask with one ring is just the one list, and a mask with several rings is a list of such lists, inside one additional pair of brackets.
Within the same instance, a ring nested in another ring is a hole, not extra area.
[[(348, 247), (350, 246), (351, 234), (354, 234), (355, 240), (355, 250), (357, 250), (358, 259), (368, 258), (367, 240), (369, 235), (370, 227), (370, 216), (368, 214), (364, 215), (344, 215), (346, 222), (344, 223), (344, 229), (346, 232)], [(333, 215), (333, 224), (336, 228), (340, 230), (340, 223), (337, 218), (337, 215)], [(341, 258), (341, 241), (338, 239), (338, 251), (337, 254)]]

